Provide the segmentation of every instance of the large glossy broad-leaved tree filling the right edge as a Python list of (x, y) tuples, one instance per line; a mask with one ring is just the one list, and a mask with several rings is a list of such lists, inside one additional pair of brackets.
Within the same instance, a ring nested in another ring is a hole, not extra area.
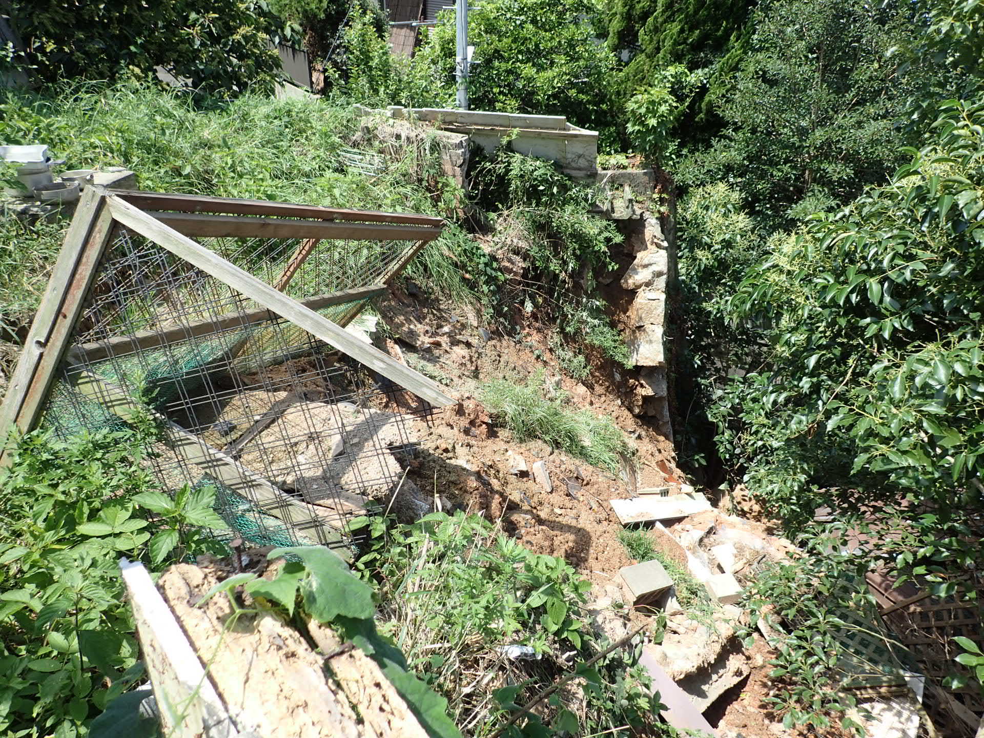
[(982, 124), (984, 100), (948, 103), (890, 184), (773, 244), (731, 300), (768, 368), (714, 413), (771, 513), (877, 511), (878, 553), (915, 575), (969, 567), (982, 532)]

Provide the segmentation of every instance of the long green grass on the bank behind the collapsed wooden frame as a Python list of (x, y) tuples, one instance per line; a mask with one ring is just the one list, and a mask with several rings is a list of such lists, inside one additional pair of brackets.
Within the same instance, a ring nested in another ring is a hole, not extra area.
[[(338, 208), (451, 215), (461, 190), (442, 175), (436, 141), (394, 148), (365, 145), (385, 161), (367, 177), (346, 169), (357, 119), (320, 99), (243, 95), (207, 110), (177, 92), (136, 85), (79, 85), (59, 94), (0, 91), (0, 141), (43, 143), (66, 168), (126, 166), (145, 190), (254, 198)], [(0, 221), (3, 316), (30, 313), (67, 221), (31, 228)], [(36, 239), (36, 240), (35, 240)], [(410, 275), (455, 299), (479, 292), (462, 273), (484, 254), (449, 226)], [(462, 266), (463, 265), (463, 266)]]

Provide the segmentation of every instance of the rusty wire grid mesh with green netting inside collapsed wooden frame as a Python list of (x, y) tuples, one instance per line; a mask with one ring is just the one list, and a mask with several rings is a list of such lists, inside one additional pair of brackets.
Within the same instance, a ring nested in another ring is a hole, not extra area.
[[(192, 224), (212, 227), (205, 217)], [(336, 327), (414, 249), (412, 232), (272, 238), (238, 235), (243, 220), (237, 235), (198, 241), (246, 282), (256, 277)], [(409, 421), (433, 405), (146, 233), (113, 222), (106, 238), (40, 426), (69, 438), (152, 425), (148, 456), (162, 486), (213, 486), (233, 534), (257, 545), (351, 543), (346, 521), (394, 491)]]

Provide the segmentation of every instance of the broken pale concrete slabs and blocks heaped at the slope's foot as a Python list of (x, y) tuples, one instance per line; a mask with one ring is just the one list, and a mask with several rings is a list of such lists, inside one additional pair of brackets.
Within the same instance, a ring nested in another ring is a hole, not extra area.
[[(669, 490), (654, 495), (644, 494), (648, 490), (639, 492), (637, 497), (612, 500), (610, 504), (623, 524), (652, 524), (646, 532), (665, 566), (650, 560), (623, 567), (619, 581), (596, 590), (590, 605), (592, 623), (598, 633), (614, 641), (629, 631), (630, 619), (639, 617), (627, 617), (628, 608), (644, 616), (663, 614), (666, 626), (662, 642), (644, 646), (640, 659), (665, 706), (663, 718), (680, 730), (704, 731), (722, 738), (743, 736), (735, 725), (723, 721), (715, 732), (708, 720), (710, 716), (718, 723), (727, 707), (718, 701), (744, 684), (753, 669), (769, 668), (764, 646), (747, 649), (743, 642), (750, 618), (742, 607), (742, 595), (765, 569), (796, 549), (788, 540), (771, 534), (763, 523), (718, 512), (687, 485), (674, 495), (668, 494)], [(684, 572), (689, 575), (686, 582), (682, 581)], [(674, 577), (680, 581), (674, 582)], [(707, 588), (709, 604), (693, 604), (694, 581)], [(680, 604), (677, 585), (684, 587), (684, 592), (689, 587), (687, 608)], [(764, 635), (773, 644), (773, 639), (783, 638), (769, 627)], [(908, 676), (921, 683), (919, 675), (908, 672)], [(909, 680), (909, 688), (912, 683)], [(855, 715), (871, 734), (898, 738), (916, 735), (925, 717), (919, 704), (922, 690), (910, 692), (900, 683), (896, 691), (894, 696), (890, 690), (890, 696), (883, 690), (884, 694), (876, 695), (872, 702), (862, 703), (863, 711)], [(745, 729), (741, 723), (738, 727)], [(768, 727), (780, 728), (777, 724)]]

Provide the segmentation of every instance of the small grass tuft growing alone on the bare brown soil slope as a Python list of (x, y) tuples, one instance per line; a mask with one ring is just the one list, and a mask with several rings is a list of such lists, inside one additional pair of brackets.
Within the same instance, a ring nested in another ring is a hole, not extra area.
[(635, 453), (609, 418), (599, 418), (587, 410), (567, 409), (567, 393), (561, 390), (554, 390), (553, 397), (547, 397), (542, 371), (525, 384), (511, 379), (493, 380), (482, 388), (481, 400), (493, 419), (509, 428), (517, 440), (543, 441), (554, 450), (613, 474), (619, 472), (621, 461)]

